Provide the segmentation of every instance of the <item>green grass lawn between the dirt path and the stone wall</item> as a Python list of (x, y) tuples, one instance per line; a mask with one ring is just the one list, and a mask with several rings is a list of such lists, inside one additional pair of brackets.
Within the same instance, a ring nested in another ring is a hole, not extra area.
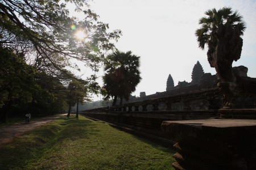
[(0, 169), (174, 169), (174, 153), (104, 122), (71, 115), (0, 147)]

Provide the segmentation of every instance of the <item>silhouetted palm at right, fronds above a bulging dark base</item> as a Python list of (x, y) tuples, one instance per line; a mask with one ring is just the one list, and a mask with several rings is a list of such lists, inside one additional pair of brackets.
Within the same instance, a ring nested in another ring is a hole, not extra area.
[(240, 59), (245, 31), (245, 22), (238, 11), (231, 7), (220, 10), (213, 8), (205, 12), (207, 17), (199, 20), (201, 28), (196, 30), (199, 47), (204, 49), (208, 45), (207, 57), (211, 67), (215, 67), (218, 78), (222, 82), (236, 81), (232, 63)]

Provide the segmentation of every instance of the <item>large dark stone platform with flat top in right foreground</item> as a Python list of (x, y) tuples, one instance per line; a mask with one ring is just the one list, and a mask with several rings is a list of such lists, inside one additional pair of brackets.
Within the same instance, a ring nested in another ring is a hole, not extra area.
[(256, 120), (164, 121), (177, 141), (175, 169), (256, 169)]

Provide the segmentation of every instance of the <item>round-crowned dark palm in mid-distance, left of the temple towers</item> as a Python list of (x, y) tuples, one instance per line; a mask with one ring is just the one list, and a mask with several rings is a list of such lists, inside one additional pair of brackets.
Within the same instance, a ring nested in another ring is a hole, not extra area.
[(120, 99), (120, 107), (123, 104), (123, 98), (129, 100), (132, 92), (136, 90), (141, 82), (141, 72), (139, 71), (139, 56), (135, 56), (131, 51), (120, 52), (115, 50), (107, 57), (103, 76), (104, 87), (107, 91), (105, 99), (114, 97), (113, 105)]

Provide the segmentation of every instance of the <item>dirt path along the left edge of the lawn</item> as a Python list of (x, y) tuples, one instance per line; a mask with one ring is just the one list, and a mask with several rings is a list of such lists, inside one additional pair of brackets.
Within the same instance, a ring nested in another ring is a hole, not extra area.
[(51, 117), (43, 117), (35, 121), (31, 120), (29, 124), (24, 124), (22, 122), (13, 125), (0, 126), (0, 147), (5, 143), (10, 142), (14, 138), (26, 133), (27, 131), (33, 130), (38, 126), (47, 124), (48, 122), (65, 115), (67, 114), (56, 114), (55, 116)]

